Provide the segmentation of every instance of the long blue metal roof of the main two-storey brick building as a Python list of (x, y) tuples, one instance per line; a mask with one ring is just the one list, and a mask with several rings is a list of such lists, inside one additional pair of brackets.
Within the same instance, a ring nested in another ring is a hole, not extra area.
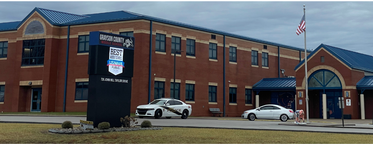
[[(161, 23), (171, 24), (171, 25), (175, 25), (175, 26), (181, 26), (181, 27), (186, 27), (186, 28), (190, 28), (190, 29), (201, 30), (201, 31), (204, 31), (204, 32), (216, 33), (216, 34), (219, 34), (219, 35), (236, 37), (236, 38), (239, 38), (239, 39), (245, 39), (245, 40), (250, 40), (250, 41), (253, 41), (253, 42), (264, 43), (264, 44), (267, 44), (267, 45), (280, 46), (280, 47), (283, 47), (283, 48), (294, 49), (294, 50), (302, 50), (302, 51), (304, 50), (302, 48), (289, 46), (289, 45), (283, 45), (281, 43), (270, 42), (270, 41), (267, 41), (267, 40), (261, 40), (261, 39), (256, 39), (256, 38), (253, 38), (253, 37), (247, 37), (247, 36), (242, 36), (242, 35), (236, 35), (236, 34), (233, 34), (233, 33), (227, 33), (227, 32), (223, 32), (223, 31), (220, 31), (220, 30), (208, 29), (208, 28), (205, 28), (205, 27), (194, 26), (194, 25), (191, 25), (191, 24), (180, 23), (180, 22), (175, 22), (175, 21), (166, 20), (166, 19), (160, 19), (160, 18), (157, 18), (157, 17), (146, 16), (146, 15), (127, 12), (127, 11), (117, 11), (117, 12), (79, 15), (79, 14), (70, 14), (70, 13), (59, 12), (59, 11), (55, 11), (55, 10), (48, 10), (48, 9), (35, 7), (35, 9), (32, 10), (32, 12), (29, 13), (28, 16), (26, 16), (25, 19), (23, 19), (18, 24), (18, 26), (10, 26), (10, 27), (8, 26), (7, 29), (4, 29), (6, 26), (4, 26), (4, 23), (0, 23), (0, 31), (6, 31), (6, 30), (9, 30), (9, 29), (17, 29), (35, 11), (40, 13), (49, 23), (51, 23), (53, 25), (57, 25), (57, 26), (68, 26), (68, 25), (76, 25), (76, 24), (89, 24), (89, 23), (102, 23), (102, 22), (116, 22), (116, 21), (123, 21), (123, 20), (145, 19), (145, 20), (153, 20), (154, 22), (161, 22)], [(312, 52), (312, 51), (307, 50), (307, 52)]]

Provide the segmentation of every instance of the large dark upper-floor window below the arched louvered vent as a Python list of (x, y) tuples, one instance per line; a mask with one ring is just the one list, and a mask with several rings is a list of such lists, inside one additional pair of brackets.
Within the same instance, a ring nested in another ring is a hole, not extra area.
[(22, 66), (44, 65), (45, 39), (23, 40)]

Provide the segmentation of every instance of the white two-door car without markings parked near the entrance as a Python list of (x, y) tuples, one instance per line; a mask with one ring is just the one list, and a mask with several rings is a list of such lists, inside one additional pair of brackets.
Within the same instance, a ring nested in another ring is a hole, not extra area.
[(294, 118), (294, 111), (279, 105), (263, 105), (256, 109), (244, 111), (241, 118), (254, 121), (255, 119), (270, 119), (287, 121)]

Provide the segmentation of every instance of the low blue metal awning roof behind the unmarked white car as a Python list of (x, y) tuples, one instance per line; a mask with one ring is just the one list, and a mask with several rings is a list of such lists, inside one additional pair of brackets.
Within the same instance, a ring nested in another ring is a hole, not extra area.
[(263, 78), (253, 85), (254, 90), (294, 89), (295, 78)]

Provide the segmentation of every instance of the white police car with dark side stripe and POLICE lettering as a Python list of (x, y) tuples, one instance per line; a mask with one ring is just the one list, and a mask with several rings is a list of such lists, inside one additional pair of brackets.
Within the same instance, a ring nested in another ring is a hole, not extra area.
[(140, 105), (136, 109), (136, 115), (139, 116), (139, 118), (154, 117), (158, 119), (160, 117), (181, 117), (182, 119), (186, 119), (191, 113), (191, 105), (187, 105), (174, 98), (156, 99), (148, 105)]

